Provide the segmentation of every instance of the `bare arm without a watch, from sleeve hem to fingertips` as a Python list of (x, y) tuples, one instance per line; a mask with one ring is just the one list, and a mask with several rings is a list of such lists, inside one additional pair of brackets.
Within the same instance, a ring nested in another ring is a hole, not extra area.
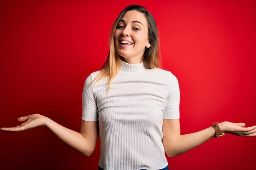
[(0, 131), (19, 132), (38, 126), (44, 126), (47, 127), (56, 136), (58, 136), (58, 138), (60, 138), (63, 142), (78, 150), (85, 156), (90, 156), (96, 147), (99, 132), (98, 121), (89, 122), (82, 120), (81, 133), (61, 126), (48, 117), (42, 116), (40, 114), (32, 114), (29, 116), (20, 117), (17, 119), (17, 121), (26, 122), (16, 127), (2, 127), (0, 128)]

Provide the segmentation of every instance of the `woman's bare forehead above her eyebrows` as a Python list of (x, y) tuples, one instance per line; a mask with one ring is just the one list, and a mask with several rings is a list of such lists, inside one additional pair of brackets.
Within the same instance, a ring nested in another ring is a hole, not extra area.
[(126, 23), (132, 21), (140, 21), (143, 24), (143, 26), (147, 25), (147, 18), (145, 17), (145, 15), (135, 10), (125, 12), (121, 20), (125, 20)]

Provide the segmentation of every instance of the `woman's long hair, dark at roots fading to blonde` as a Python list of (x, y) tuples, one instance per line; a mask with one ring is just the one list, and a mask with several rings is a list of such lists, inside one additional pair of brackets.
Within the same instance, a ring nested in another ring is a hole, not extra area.
[[(93, 79), (93, 81), (90, 83), (92, 85), (93, 83), (98, 82), (99, 80), (103, 78), (108, 78), (108, 91), (110, 90), (111, 81), (116, 77), (116, 75), (119, 73), (119, 70), (121, 68), (121, 59), (119, 57), (119, 54), (116, 51), (115, 44), (114, 44), (114, 33), (116, 31), (117, 24), (119, 20), (123, 17), (125, 12), (130, 10), (136, 10), (141, 12), (145, 15), (147, 18), (148, 23), (148, 39), (151, 44), (150, 48), (145, 48), (145, 52), (143, 55), (143, 64), (145, 68), (151, 69), (151, 68), (162, 68), (161, 65), (161, 57), (160, 57), (160, 43), (159, 43), (159, 34), (156, 22), (154, 20), (154, 17), (147, 11), (143, 6), (138, 5), (131, 5), (126, 7), (117, 17), (116, 20), (113, 23), (113, 26), (111, 28), (111, 34), (109, 38), (109, 53), (108, 57), (105, 60), (104, 65), (100, 69), (99, 74)], [(89, 87), (90, 87), (89, 85)]]

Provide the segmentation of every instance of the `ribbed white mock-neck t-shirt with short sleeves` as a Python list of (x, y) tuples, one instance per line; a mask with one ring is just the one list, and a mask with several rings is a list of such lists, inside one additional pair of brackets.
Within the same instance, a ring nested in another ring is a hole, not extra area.
[(82, 119), (99, 120), (99, 166), (105, 170), (157, 170), (168, 165), (163, 147), (163, 119), (179, 119), (177, 78), (143, 62), (122, 61), (111, 82), (102, 79), (91, 87), (99, 71), (84, 82)]

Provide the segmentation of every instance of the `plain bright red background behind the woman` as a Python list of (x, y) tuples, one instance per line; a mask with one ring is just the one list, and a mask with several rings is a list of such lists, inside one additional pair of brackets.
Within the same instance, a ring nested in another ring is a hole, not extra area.
[[(40, 113), (79, 131), (86, 77), (108, 53), (128, 5), (145, 6), (160, 31), (163, 65), (180, 84), (181, 133), (213, 122), (256, 125), (256, 1), (0, 1), (0, 127)], [(227, 134), (167, 158), (172, 170), (255, 170), (256, 137)], [(0, 169), (97, 169), (44, 127), (0, 132)]]

